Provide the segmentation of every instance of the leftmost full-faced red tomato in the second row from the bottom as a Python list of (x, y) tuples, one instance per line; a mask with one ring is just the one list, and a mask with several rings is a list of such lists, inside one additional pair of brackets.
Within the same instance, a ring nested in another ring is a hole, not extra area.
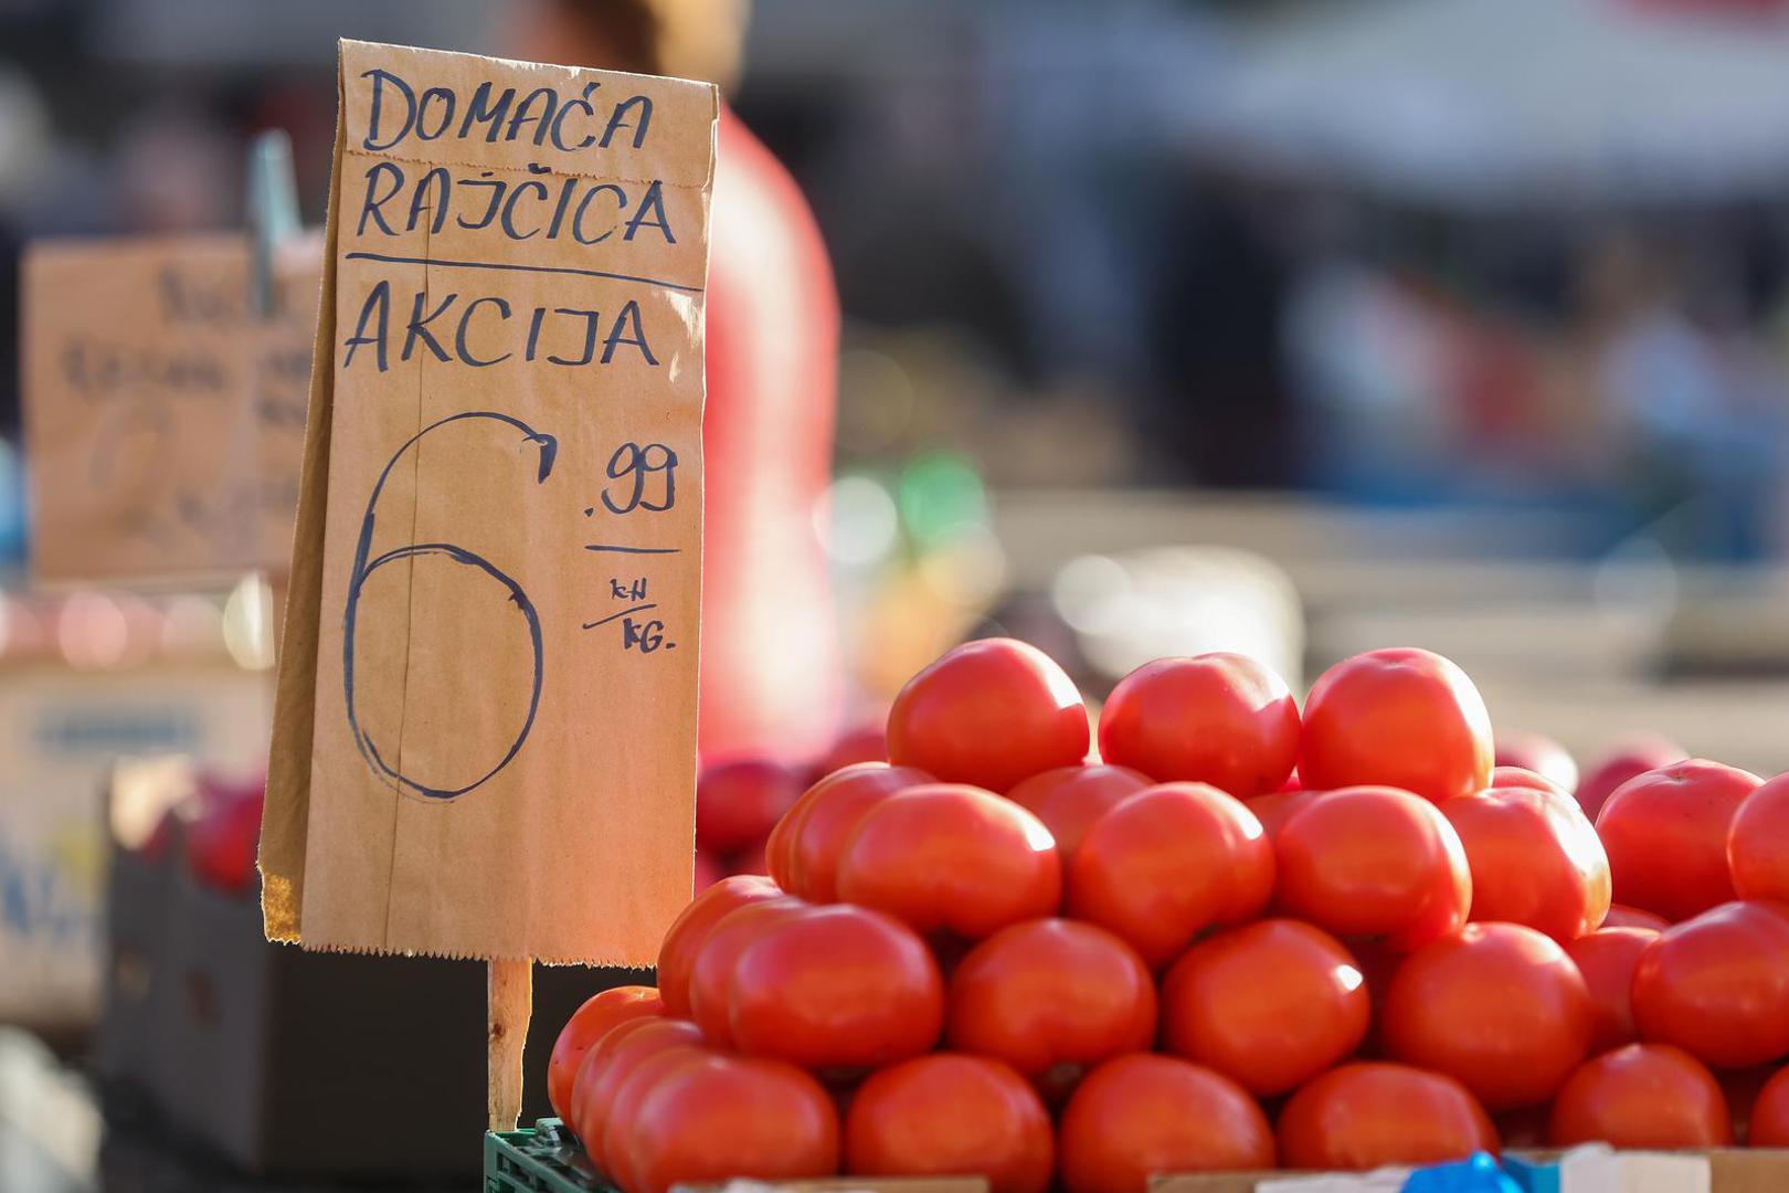
[(816, 907), (739, 953), (728, 1025), (746, 1053), (818, 1070), (887, 1064), (937, 1043), (945, 980), (893, 916)]

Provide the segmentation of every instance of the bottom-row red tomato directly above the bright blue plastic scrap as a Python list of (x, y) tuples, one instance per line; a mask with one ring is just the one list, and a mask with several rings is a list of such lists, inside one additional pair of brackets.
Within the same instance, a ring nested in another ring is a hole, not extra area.
[(1438, 1164), (1496, 1150), (1497, 1130), (1465, 1086), (1408, 1064), (1333, 1068), (1279, 1113), (1286, 1168)]

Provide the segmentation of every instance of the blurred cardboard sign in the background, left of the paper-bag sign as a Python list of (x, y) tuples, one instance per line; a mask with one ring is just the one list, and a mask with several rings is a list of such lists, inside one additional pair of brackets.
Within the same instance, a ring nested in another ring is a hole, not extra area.
[(32, 571), (43, 581), (283, 572), (318, 241), (250, 313), (242, 233), (39, 241), (25, 254)]

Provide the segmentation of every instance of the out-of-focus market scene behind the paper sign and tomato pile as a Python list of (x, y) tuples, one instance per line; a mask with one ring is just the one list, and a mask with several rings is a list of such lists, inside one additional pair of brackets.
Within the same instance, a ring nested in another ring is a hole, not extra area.
[[(716, 283), (710, 308), (733, 360), (708, 367), (705, 762), (873, 753), (912, 671), (1007, 633), (1090, 699), (1159, 655), (1240, 649), (1302, 690), (1426, 646), (1499, 730), (1585, 766), (1664, 735), (1789, 769), (1789, 4), (757, 0), (744, 21), (0, 0), (0, 1020), (89, 1055), (120, 766), (254, 785), (277, 603), (277, 576), (32, 585), (21, 252), (240, 229), (267, 129), (318, 225), (340, 36), (726, 84), (750, 132), (730, 150), (723, 127), (716, 274), (782, 250), (800, 293), (742, 288), (717, 322)], [(737, 347), (776, 334), (793, 360)], [(789, 483), (737, 474), (723, 436), (793, 444)], [(825, 578), (816, 617), (735, 567), (728, 544), (766, 535)], [(728, 721), (753, 692), (762, 715)], [(45, 1087), (9, 1066), (64, 1070), (5, 1041), (0, 1188), (95, 1188), (98, 1118), (9, 1093)]]

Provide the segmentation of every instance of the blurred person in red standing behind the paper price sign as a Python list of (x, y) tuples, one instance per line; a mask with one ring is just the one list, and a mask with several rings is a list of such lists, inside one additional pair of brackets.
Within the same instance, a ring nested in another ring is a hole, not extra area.
[[(538, 0), (535, 61), (728, 84), (742, 0)], [(816, 529), (832, 479), (839, 299), (814, 215), (723, 102), (710, 207), (701, 592), (703, 762), (812, 758), (843, 664)]]

